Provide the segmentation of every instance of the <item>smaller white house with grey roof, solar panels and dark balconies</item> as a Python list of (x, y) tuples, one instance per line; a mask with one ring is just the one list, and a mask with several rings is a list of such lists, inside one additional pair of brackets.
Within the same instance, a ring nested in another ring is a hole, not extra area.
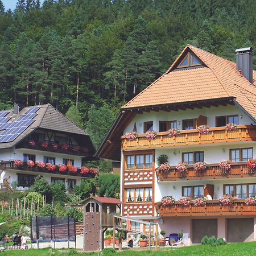
[(14, 110), (0, 112), (0, 131), (0, 183), (7, 179), (24, 190), (42, 175), (72, 190), (94, 176), (87, 168), (81, 171), (82, 163), (94, 158), (89, 135), (49, 104), (23, 109), (15, 104)]

